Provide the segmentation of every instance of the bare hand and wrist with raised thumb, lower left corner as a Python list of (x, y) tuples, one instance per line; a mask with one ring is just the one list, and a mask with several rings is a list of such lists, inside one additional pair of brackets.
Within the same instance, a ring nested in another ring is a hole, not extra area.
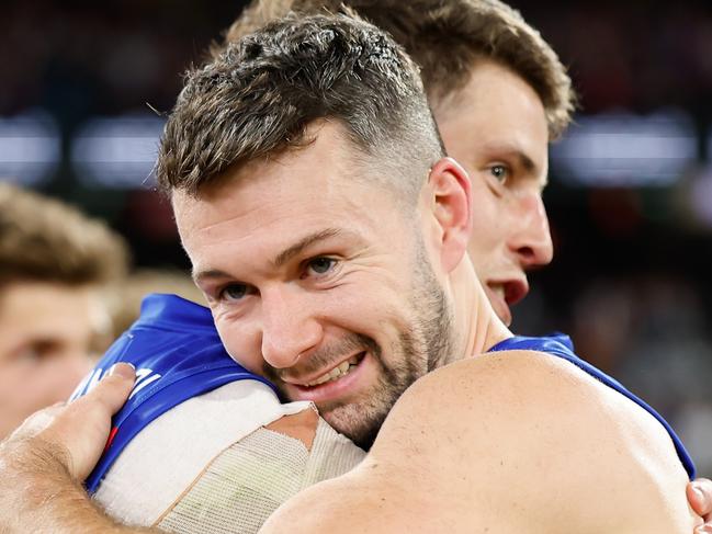
[(134, 384), (121, 365), (86, 397), (42, 410), (0, 445), (0, 531), (142, 533), (95, 508), (81, 487)]

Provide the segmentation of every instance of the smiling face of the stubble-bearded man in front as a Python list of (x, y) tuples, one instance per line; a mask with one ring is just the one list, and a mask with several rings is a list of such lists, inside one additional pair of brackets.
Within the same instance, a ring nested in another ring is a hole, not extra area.
[(354, 178), (341, 138), (327, 124), (173, 206), (228, 352), (368, 446), (405, 388), (456, 352), (443, 288), (456, 246), (423, 193), (407, 207)]

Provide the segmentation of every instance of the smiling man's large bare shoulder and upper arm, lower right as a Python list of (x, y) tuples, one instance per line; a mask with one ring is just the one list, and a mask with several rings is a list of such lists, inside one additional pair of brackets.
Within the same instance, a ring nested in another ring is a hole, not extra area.
[(459, 362), (414, 385), (354, 471), (263, 533), (690, 533), (687, 476), (662, 427), (547, 356)]

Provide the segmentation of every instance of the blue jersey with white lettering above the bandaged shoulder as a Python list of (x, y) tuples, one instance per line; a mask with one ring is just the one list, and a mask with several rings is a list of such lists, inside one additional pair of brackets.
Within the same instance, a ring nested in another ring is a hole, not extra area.
[(235, 380), (264, 378), (225, 352), (211, 311), (174, 295), (149, 295), (138, 320), (118, 338), (79, 385), (70, 400), (86, 395), (117, 362), (136, 368), (136, 384), (112, 420), (109, 443), (86, 480), (95, 491), (131, 440), (174, 406)]

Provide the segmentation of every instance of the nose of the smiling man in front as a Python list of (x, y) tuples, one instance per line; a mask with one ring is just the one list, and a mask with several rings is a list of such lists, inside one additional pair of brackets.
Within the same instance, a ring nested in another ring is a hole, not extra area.
[(316, 346), (323, 328), (298, 287), (262, 292), (262, 357), (275, 368), (291, 367)]

